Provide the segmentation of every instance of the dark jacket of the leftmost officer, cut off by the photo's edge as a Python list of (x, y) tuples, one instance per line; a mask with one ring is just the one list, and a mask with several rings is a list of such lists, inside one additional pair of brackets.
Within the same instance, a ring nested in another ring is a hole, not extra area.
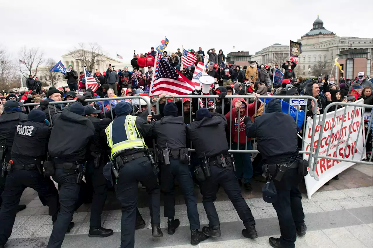
[(6, 144), (6, 161), (10, 160), (16, 126), (20, 121), (26, 119), (27, 114), (22, 111), (4, 111), (0, 116), (0, 145)]

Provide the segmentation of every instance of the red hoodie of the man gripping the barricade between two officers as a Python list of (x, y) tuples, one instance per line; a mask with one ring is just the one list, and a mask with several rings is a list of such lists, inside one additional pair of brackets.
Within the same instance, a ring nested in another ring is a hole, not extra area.
[[(243, 98), (234, 98), (232, 101), (232, 126), (229, 127), (229, 124), (231, 123), (231, 114), (228, 112), (225, 115), (225, 118), (228, 121), (228, 129), (231, 130), (232, 134), (232, 142), (237, 143), (238, 141), (238, 126), (239, 126), (239, 143), (240, 144), (245, 144), (249, 138), (246, 137), (245, 129), (246, 125), (244, 123), (244, 120), (246, 118), (246, 108), (245, 108), (245, 114), (243, 116), (240, 115), (239, 117), (239, 124), (238, 124), (238, 112), (236, 112), (236, 108), (234, 107), (236, 105), (236, 102), (240, 100), (241, 102), (245, 102), (245, 99)], [(261, 103), (257, 101), (257, 109), (260, 107)], [(255, 112), (255, 102), (251, 103), (248, 105), (248, 114), (249, 117), (251, 118), (256, 112)], [(236, 149), (236, 148), (233, 148)]]

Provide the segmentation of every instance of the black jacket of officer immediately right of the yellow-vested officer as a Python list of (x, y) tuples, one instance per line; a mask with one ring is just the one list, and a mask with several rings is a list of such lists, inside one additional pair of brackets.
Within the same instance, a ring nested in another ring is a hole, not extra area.
[(186, 125), (182, 116), (164, 116), (152, 122), (153, 135), (157, 137), (159, 149), (180, 150), (186, 147)]

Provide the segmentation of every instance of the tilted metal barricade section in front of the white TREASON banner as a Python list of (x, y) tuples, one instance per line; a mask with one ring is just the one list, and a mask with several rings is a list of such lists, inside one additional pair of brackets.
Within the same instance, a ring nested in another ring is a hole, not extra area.
[[(319, 136), (319, 140), (317, 141), (316, 152), (313, 154), (314, 161), (317, 161), (317, 159), (322, 158), (322, 159), (338, 160), (338, 161), (344, 161), (344, 162), (361, 163), (361, 164), (365, 164), (365, 165), (373, 165), (372, 154), (371, 154), (371, 156), (369, 158), (369, 161), (363, 161), (363, 156), (366, 153), (366, 145), (367, 145), (368, 136), (369, 136), (369, 134), (371, 132), (371, 129), (372, 129), (372, 119), (373, 119), (372, 117), (373, 117), (373, 115), (371, 115), (371, 117), (370, 117), (370, 119), (368, 121), (368, 131), (367, 131), (367, 134), (365, 135), (366, 136), (365, 139), (363, 140), (363, 150), (361, 152), (360, 159), (359, 160), (354, 160), (356, 147), (353, 147), (353, 149), (351, 149), (352, 150), (351, 151), (352, 159), (345, 159), (345, 156), (346, 156), (346, 153), (347, 153), (346, 148), (348, 146), (348, 140), (350, 140), (351, 130), (352, 130), (352, 127), (353, 127), (354, 120), (356, 121), (357, 119), (358, 120), (360, 119), (360, 124), (358, 125), (358, 131), (357, 131), (357, 135), (358, 136), (357, 136), (357, 139), (356, 139), (356, 144), (358, 144), (358, 141), (360, 139), (363, 139), (363, 137), (360, 137), (360, 132), (361, 132), (361, 128), (362, 127), (364, 128), (364, 126), (365, 126), (365, 124), (364, 124), (364, 112), (365, 112), (365, 109), (366, 108), (372, 109), (373, 105), (356, 104), (356, 103), (353, 103), (353, 102), (332, 102), (331, 104), (329, 104), (329, 105), (326, 106), (326, 108), (324, 110), (324, 113), (327, 113), (328, 109), (330, 109), (330, 108), (332, 108), (332, 107), (334, 107), (336, 105), (354, 106), (353, 113), (355, 113), (355, 111), (356, 111), (357, 108), (361, 108), (361, 118), (360, 117), (355, 117), (355, 114), (352, 114), (352, 116), (351, 116), (351, 123), (350, 123), (349, 128), (348, 128), (348, 136), (347, 136), (346, 144), (341, 144), (342, 146), (344, 145), (343, 153), (342, 153), (343, 156), (342, 156), (342, 158), (337, 158), (338, 153), (335, 153), (336, 156), (320, 156), (319, 155), (320, 144), (321, 144), (322, 139), (323, 139), (323, 133), (324, 133), (325, 123), (326, 123), (326, 115), (323, 115), (322, 120), (319, 120), (320, 136)], [(343, 123), (345, 122), (346, 112), (347, 112), (347, 108), (344, 107), (344, 112), (343, 112), (343, 115), (342, 115), (342, 118), (341, 118), (341, 128), (339, 130), (334, 130), (334, 132), (333, 132), (333, 129), (334, 129), (334, 126), (335, 126), (335, 122), (336, 122), (336, 114), (337, 114), (336, 111), (334, 112), (333, 122), (332, 122), (332, 125), (331, 125), (331, 133), (332, 134), (334, 134), (334, 133), (339, 134), (338, 142), (337, 142), (337, 145), (336, 145), (336, 151), (338, 151), (339, 143), (341, 142), (342, 128), (343, 128)], [(349, 120), (347, 120), (347, 121), (349, 121)], [(316, 121), (315, 121), (315, 123), (316, 123)], [(328, 145), (327, 152), (329, 152), (331, 140), (332, 140), (332, 135), (330, 135), (330, 138), (326, 139), (326, 141), (325, 141), (325, 142), (328, 142), (328, 144), (327, 144)], [(372, 148), (371, 152), (373, 153), (373, 148)], [(313, 168), (312, 168), (314, 172), (316, 171), (316, 167), (317, 166), (313, 166)]]

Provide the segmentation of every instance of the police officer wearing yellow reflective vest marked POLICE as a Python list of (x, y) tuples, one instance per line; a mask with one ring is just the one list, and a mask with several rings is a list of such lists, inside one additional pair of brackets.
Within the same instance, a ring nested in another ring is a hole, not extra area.
[(144, 119), (130, 115), (131, 105), (119, 102), (115, 107), (116, 118), (106, 128), (110, 159), (119, 170), (116, 196), (122, 207), (120, 248), (134, 248), (138, 182), (149, 194), (149, 209), (153, 237), (162, 237), (160, 229), (160, 187), (157, 169), (148, 158), (144, 138), (152, 135), (151, 125)]

